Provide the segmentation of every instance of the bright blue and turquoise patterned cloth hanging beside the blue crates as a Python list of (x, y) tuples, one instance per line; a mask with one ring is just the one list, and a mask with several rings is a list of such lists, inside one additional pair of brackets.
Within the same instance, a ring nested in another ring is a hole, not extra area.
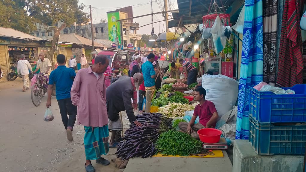
[(248, 139), (248, 86), (263, 81), (263, 2), (245, 0), (236, 139)]

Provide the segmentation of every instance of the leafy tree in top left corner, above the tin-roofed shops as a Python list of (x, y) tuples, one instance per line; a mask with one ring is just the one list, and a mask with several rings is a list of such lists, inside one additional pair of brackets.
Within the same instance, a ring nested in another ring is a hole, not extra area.
[(0, 9), (0, 27), (13, 28), (25, 33), (35, 29), (36, 19), (29, 16), (25, 10), (25, 0), (1, 0)]

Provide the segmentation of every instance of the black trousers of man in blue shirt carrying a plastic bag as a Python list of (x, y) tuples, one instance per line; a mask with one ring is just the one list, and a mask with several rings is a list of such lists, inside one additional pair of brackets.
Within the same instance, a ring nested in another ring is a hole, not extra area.
[[(58, 107), (65, 129), (72, 130), (76, 122), (77, 107), (72, 104), (71, 98), (58, 100)], [(69, 115), (69, 118), (67, 115)]]

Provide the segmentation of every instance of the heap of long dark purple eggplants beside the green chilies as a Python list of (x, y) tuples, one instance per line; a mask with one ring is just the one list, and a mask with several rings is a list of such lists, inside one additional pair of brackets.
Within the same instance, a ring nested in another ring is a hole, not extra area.
[(117, 158), (146, 158), (155, 155), (158, 149), (155, 148), (154, 143), (160, 132), (165, 131), (164, 126), (166, 126), (168, 130), (172, 127), (168, 125), (172, 124), (172, 122), (169, 122), (171, 119), (165, 118), (162, 114), (158, 113), (143, 113), (137, 115), (136, 119), (142, 126), (137, 127), (132, 123), (130, 128), (125, 131), (125, 140), (119, 145), (116, 152)]

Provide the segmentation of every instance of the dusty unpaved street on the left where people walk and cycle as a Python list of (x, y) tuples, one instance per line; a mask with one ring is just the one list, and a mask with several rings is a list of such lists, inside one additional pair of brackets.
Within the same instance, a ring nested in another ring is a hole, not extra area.
[[(0, 83), (0, 171), (1, 172), (72, 172), (85, 171), (83, 145), (84, 129), (81, 125), (73, 128), (73, 142), (69, 142), (62, 124), (55, 97), (51, 99), (54, 120), (43, 121), (47, 96), (39, 107), (31, 101), (31, 92), (22, 92), (21, 79)], [(129, 121), (123, 113), (123, 123)], [(106, 159), (115, 157), (116, 148), (110, 148)], [(117, 172), (114, 163), (97, 165), (97, 172)]]

